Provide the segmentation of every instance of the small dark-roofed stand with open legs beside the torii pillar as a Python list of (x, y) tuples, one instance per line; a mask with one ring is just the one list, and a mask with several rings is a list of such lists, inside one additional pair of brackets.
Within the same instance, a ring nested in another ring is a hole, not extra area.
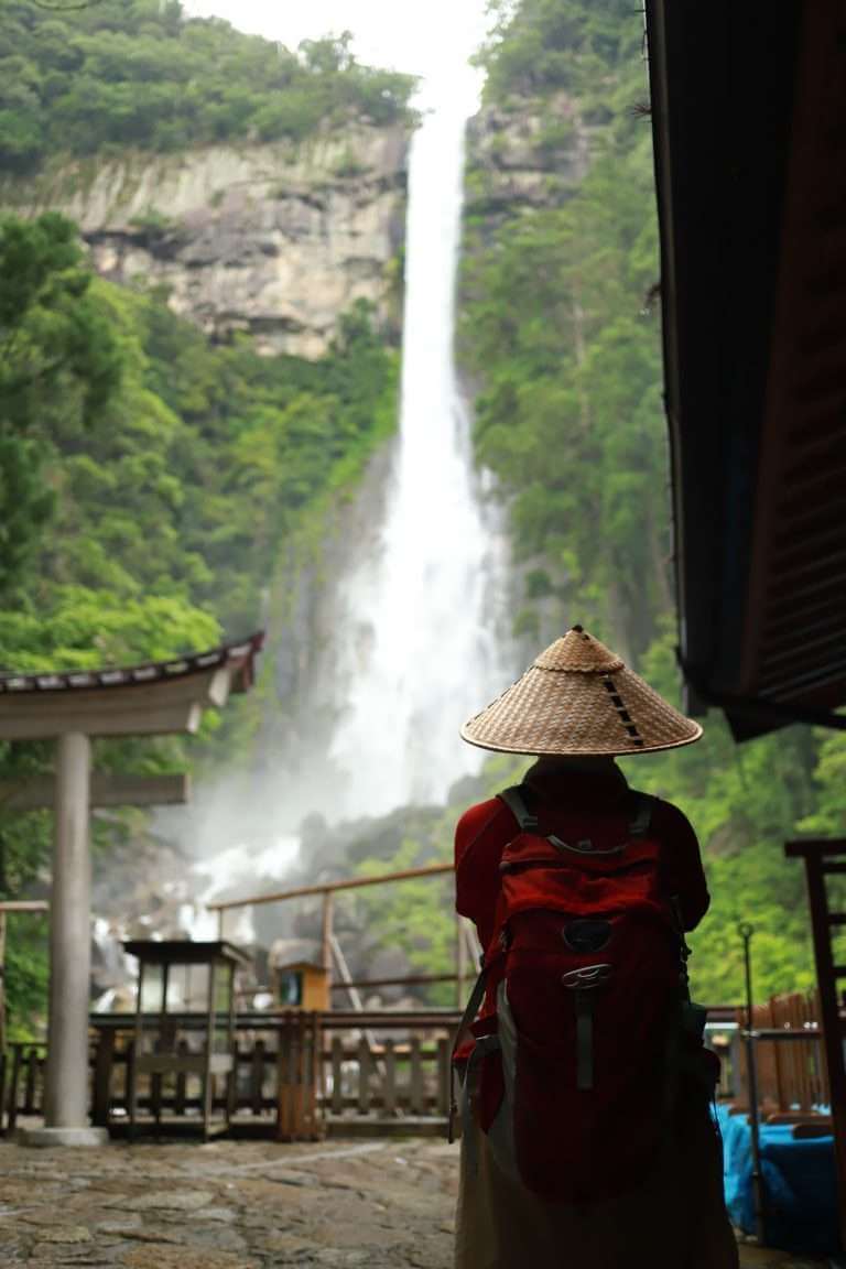
[[(150, 1108), (156, 1131), (161, 1127), (162, 1080), (197, 1075), (200, 1080), (197, 1122), (202, 1123), (203, 1137), (208, 1140), (216, 1132), (226, 1132), (236, 1101), (235, 971), (249, 964), (250, 958), (225, 942), (133, 939), (123, 947), (138, 958), (138, 1000), (127, 1088), (129, 1137), (138, 1126), (140, 1081), (145, 1076), (150, 1079)], [(181, 999), (172, 1000), (178, 970), (183, 971), (184, 990)], [(200, 1025), (192, 1028), (192, 1034), (199, 1030), (200, 1046), (190, 1049), (186, 1039), (178, 1043), (179, 1019), (174, 1015), (181, 1014), (184, 1019), (185, 1003), (197, 999), (198, 986), (204, 1010), (197, 1015)], [(169, 1009), (171, 1004), (176, 1008)], [(226, 1080), (226, 1098), (223, 1117), (214, 1121), (217, 1079)], [(185, 1122), (180, 1115), (179, 1124)]]

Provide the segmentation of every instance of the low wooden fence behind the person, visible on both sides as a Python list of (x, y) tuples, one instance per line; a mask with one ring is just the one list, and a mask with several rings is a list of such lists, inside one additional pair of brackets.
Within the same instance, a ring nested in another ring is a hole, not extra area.
[[(309, 1018), (315, 1025), (303, 1030)], [(172, 1022), (176, 1051), (195, 1052), (204, 1016), (181, 1014)], [(228, 1108), (236, 1132), (289, 1141), (326, 1131), (443, 1132), (458, 1022), (458, 1011), (448, 1009), (240, 1014), (236, 1074), (230, 1085), (217, 1081), (214, 1108)], [(816, 995), (774, 996), (755, 1008), (752, 1022), (764, 1114), (810, 1115), (827, 1104)], [(723, 1060), (719, 1095), (738, 1109), (748, 1109), (745, 1027), (742, 1009), (709, 1011), (709, 1039)], [(133, 1030), (131, 1016), (91, 1019), (91, 1119), (115, 1132), (128, 1118)], [(0, 1058), (0, 1129), (43, 1113), (44, 1055), (44, 1044), (15, 1043)], [(143, 1076), (138, 1094), (142, 1123), (199, 1123), (203, 1089), (197, 1076)]]

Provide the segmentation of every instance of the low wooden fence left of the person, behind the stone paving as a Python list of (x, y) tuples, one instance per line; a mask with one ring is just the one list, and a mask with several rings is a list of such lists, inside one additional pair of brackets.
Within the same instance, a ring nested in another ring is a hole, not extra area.
[[(197, 1052), (205, 1019), (176, 1015), (176, 1055)], [(240, 1015), (231, 1081), (216, 1080), (213, 1107), (230, 1112), (233, 1131), (279, 1140), (323, 1132), (440, 1132), (450, 1099), (454, 1010)], [(91, 1019), (91, 1122), (120, 1132), (128, 1122), (134, 1024)], [(155, 1033), (148, 1039), (153, 1042)], [(145, 1037), (147, 1038), (147, 1037)], [(43, 1113), (43, 1044), (13, 1044), (0, 1063), (0, 1126)], [(161, 1131), (199, 1124), (200, 1079), (138, 1077), (138, 1124)]]

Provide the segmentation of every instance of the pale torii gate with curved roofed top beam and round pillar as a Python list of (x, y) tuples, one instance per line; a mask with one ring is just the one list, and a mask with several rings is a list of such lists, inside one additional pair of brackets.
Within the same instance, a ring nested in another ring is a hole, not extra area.
[[(53, 881), (49, 929), (49, 1006), (44, 1128), (39, 1145), (99, 1143), (88, 1126), (88, 1015), (91, 858), (89, 819), (95, 805), (151, 805), (181, 799), (172, 782), (94, 775), (91, 737), (162, 736), (197, 731), (203, 711), (246, 692), (263, 633), (172, 661), (67, 674), (0, 675), (0, 740), (56, 740)], [(44, 789), (18, 794), (20, 808), (43, 805)], [(13, 802), (14, 805), (14, 802)]]

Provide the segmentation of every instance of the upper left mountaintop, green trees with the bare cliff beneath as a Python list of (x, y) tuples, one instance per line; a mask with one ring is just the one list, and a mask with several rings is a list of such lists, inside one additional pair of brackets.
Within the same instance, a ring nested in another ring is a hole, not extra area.
[(68, 216), (101, 277), (214, 339), (321, 357), (358, 299), (396, 327), (408, 76), (174, 3), (0, 0), (0, 208)]

